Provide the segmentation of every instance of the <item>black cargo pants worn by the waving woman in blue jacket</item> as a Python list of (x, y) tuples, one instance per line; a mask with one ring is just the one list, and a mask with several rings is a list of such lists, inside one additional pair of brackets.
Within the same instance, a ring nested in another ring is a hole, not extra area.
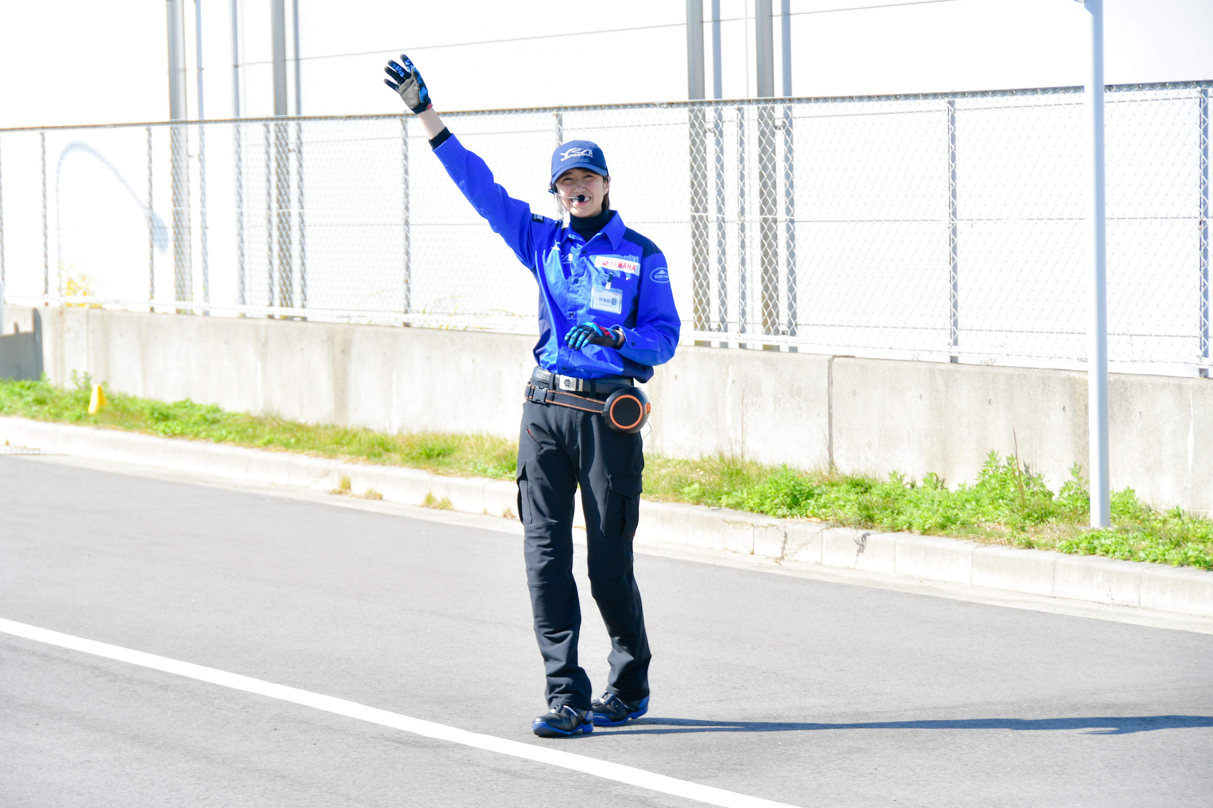
[(590, 709), (590, 677), (577, 665), (581, 606), (573, 580), (577, 483), (586, 515), (590, 589), (611, 641), (606, 690), (632, 703), (649, 694), (649, 640), (632, 574), (643, 470), (639, 435), (613, 431), (599, 414), (523, 403), (518, 516), (548, 706)]

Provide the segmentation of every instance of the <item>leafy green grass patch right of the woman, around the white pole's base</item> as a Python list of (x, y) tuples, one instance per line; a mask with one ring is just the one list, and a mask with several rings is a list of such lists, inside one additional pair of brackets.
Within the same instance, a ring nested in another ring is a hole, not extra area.
[(1213, 569), (1213, 521), (1158, 510), (1132, 488), (1112, 494), (1112, 527), (1092, 531), (1081, 469), (1053, 492), (1012, 457), (991, 452), (978, 480), (950, 489), (921, 481), (773, 469), (729, 457), (645, 458), (645, 495), (849, 527), (909, 531), (984, 543)]

